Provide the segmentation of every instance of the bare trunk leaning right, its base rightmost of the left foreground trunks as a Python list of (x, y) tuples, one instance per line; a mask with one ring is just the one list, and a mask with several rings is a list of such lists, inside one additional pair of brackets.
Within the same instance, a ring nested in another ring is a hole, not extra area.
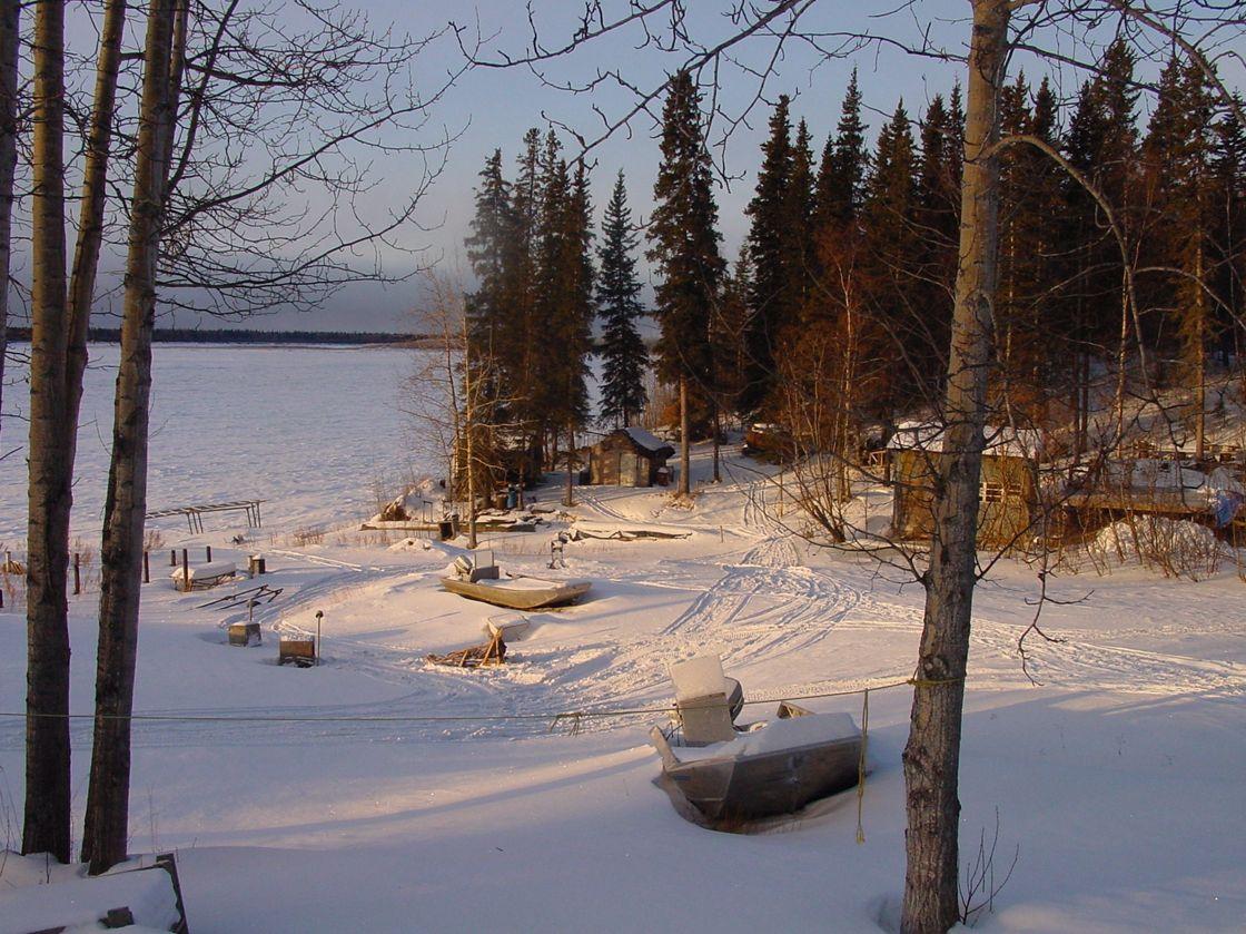
[(151, 340), (156, 269), (186, 40), (184, 0), (151, 0), (147, 12), (135, 196), (126, 261), (112, 463), (100, 550), (100, 651), (95, 744), (82, 857), (100, 873), (126, 858), (130, 713), (133, 710), (147, 505)]

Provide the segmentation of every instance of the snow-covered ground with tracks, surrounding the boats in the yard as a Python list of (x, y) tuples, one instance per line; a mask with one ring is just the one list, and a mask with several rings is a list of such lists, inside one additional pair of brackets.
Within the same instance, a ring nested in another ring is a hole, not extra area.
[[(384, 404), (376, 392), (361, 395)], [(363, 465), (392, 456), (392, 438), (356, 451), (359, 471), (290, 466), (312, 465), (335, 431), (364, 434), (363, 423), (379, 418), (368, 405), (358, 424), (292, 434), (272, 463), (234, 476), (344, 526), (369, 511)], [(252, 412), (213, 430), (284, 430), (274, 426), (282, 418)], [(698, 451), (694, 476), (708, 466)], [(424, 661), (481, 641), (488, 617), (502, 614), (440, 590), (455, 546), (348, 531), (302, 546), (264, 541), (265, 581), (283, 592), (257, 609), (264, 645), (245, 650), (224, 645), (222, 630), (243, 611), (199, 606), (227, 590), (182, 595), (153, 582), (132, 850), (178, 852), (196, 934), (877, 932), (902, 888), (900, 754), (911, 702), (910, 688), (886, 686), (912, 670), (922, 595), (868, 556), (794, 537), (775, 521), (775, 486), (734, 453), (728, 466), (690, 510), (664, 490), (577, 490), (571, 514), (598, 529), (682, 526), (685, 539), (574, 541), (567, 567), (549, 570), (548, 542), (564, 519), (492, 535), (486, 546), (506, 570), (593, 580), (584, 602), (533, 614), (498, 668)], [(207, 499), (198, 491), (211, 471), (183, 469), (179, 489)], [(552, 503), (561, 491), (537, 495)], [(203, 536), (216, 559), (244, 564), (228, 545), (235, 531), (222, 520)], [(997, 882), (1015, 855), (979, 928), (1242, 929), (1246, 585), (1226, 569), (1197, 584), (1129, 566), (1049, 579), (1052, 596), (1078, 602), (1044, 610), (1045, 631), (1063, 641), (1032, 646), (1037, 686), (1015, 651), (1034, 612), (1033, 571), (1001, 562), (979, 587), (962, 855), (973, 860), (983, 833), (991, 844), (997, 819)], [(72, 607), (80, 713), (91, 710), (93, 600)], [(325, 665), (278, 667), (278, 633), (314, 631), (318, 610)], [(22, 707), (24, 638), (20, 616), (0, 615), (0, 712)], [(721, 653), (744, 683), (749, 720), (770, 716), (778, 698), (805, 697), (806, 707), (860, 722), (862, 695), (810, 696), (878, 688), (868, 700), (863, 843), (855, 792), (770, 833), (695, 827), (653, 784), (659, 763), (645, 733), (659, 715), (556, 720), (660, 708), (672, 693), (667, 666), (703, 652)], [(75, 722), (74, 741), (81, 809), (87, 720)], [(17, 829), (21, 746), (22, 721), (0, 717), (0, 833)], [(0, 874), (0, 932), (4, 885)]]

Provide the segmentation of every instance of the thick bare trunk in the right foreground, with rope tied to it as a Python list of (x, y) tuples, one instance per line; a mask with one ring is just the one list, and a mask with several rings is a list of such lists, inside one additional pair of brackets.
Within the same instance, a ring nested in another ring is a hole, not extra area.
[(942, 933), (957, 923), (957, 773), (973, 609), (978, 481), (991, 364), (998, 243), (998, 101), (1009, 0), (974, 0), (969, 51), (959, 268), (944, 399), (926, 611), (905, 747), (908, 829), (901, 930)]

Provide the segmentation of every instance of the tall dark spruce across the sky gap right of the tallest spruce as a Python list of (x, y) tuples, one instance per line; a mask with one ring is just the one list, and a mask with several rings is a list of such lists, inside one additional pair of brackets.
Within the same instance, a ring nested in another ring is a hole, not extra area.
[(761, 145), (758, 187), (749, 202), (749, 369), (740, 409), (763, 407), (775, 383), (775, 350), (784, 325), (795, 319), (791, 308), (791, 241), (787, 192), (791, 185), (792, 148), (789, 99), (781, 95), (770, 116), (770, 136)]

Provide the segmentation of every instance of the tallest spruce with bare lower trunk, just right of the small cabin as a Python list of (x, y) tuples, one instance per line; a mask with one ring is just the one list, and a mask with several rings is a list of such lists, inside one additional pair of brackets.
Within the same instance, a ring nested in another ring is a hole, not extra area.
[(704, 395), (713, 388), (709, 322), (725, 266), (718, 247), (718, 205), (700, 101), (692, 75), (682, 71), (672, 79), (649, 223), (648, 257), (660, 277), (655, 289), (662, 327), (658, 368), (664, 379), (679, 384), (682, 495), (689, 493), (689, 392)]

